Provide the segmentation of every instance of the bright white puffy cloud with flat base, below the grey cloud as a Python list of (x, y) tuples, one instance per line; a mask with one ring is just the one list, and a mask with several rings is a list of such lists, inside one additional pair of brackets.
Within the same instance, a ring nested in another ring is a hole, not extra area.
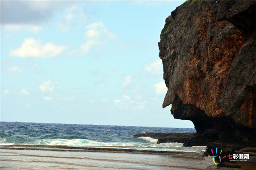
[(25, 38), (21, 47), (10, 51), (9, 55), (15, 57), (56, 57), (67, 48), (66, 45), (55, 45), (52, 42), (42, 44), (41, 40)]

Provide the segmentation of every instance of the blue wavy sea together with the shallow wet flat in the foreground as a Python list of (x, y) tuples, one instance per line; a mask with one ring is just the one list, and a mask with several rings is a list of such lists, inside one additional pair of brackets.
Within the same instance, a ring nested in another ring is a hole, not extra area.
[[(161, 143), (135, 133), (195, 133), (192, 128), (0, 122), (3, 170), (215, 169), (205, 146)], [(186, 162), (186, 163), (185, 163)]]

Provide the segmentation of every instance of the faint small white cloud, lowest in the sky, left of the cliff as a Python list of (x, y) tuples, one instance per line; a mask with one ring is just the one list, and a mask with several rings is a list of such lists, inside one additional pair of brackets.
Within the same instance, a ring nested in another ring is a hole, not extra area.
[(122, 100), (120, 99), (114, 99), (114, 106), (119, 108), (120, 110), (124, 109), (124, 110), (137, 110), (137, 109), (142, 109), (145, 106), (145, 101), (142, 102), (138, 102), (138, 101), (134, 101), (131, 100), (131, 98), (127, 95), (123, 95)]

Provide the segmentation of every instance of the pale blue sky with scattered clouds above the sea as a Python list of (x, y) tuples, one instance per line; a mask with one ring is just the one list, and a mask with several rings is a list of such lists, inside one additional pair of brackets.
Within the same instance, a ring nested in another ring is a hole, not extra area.
[(157, 43), (184, 1), (1, 0), (1, 121), (189, 127)]

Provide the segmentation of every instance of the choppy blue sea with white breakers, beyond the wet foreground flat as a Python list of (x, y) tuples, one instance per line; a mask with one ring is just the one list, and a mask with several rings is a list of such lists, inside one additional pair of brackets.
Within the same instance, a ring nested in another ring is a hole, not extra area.
[(181, 143), (157, 144), (150, 137), (133, 138), (135, 133), (195, 133), (194, 128), (75, 125), (0, 122), (0, 145), (67, 145), (120, 147), (182, 147)]

